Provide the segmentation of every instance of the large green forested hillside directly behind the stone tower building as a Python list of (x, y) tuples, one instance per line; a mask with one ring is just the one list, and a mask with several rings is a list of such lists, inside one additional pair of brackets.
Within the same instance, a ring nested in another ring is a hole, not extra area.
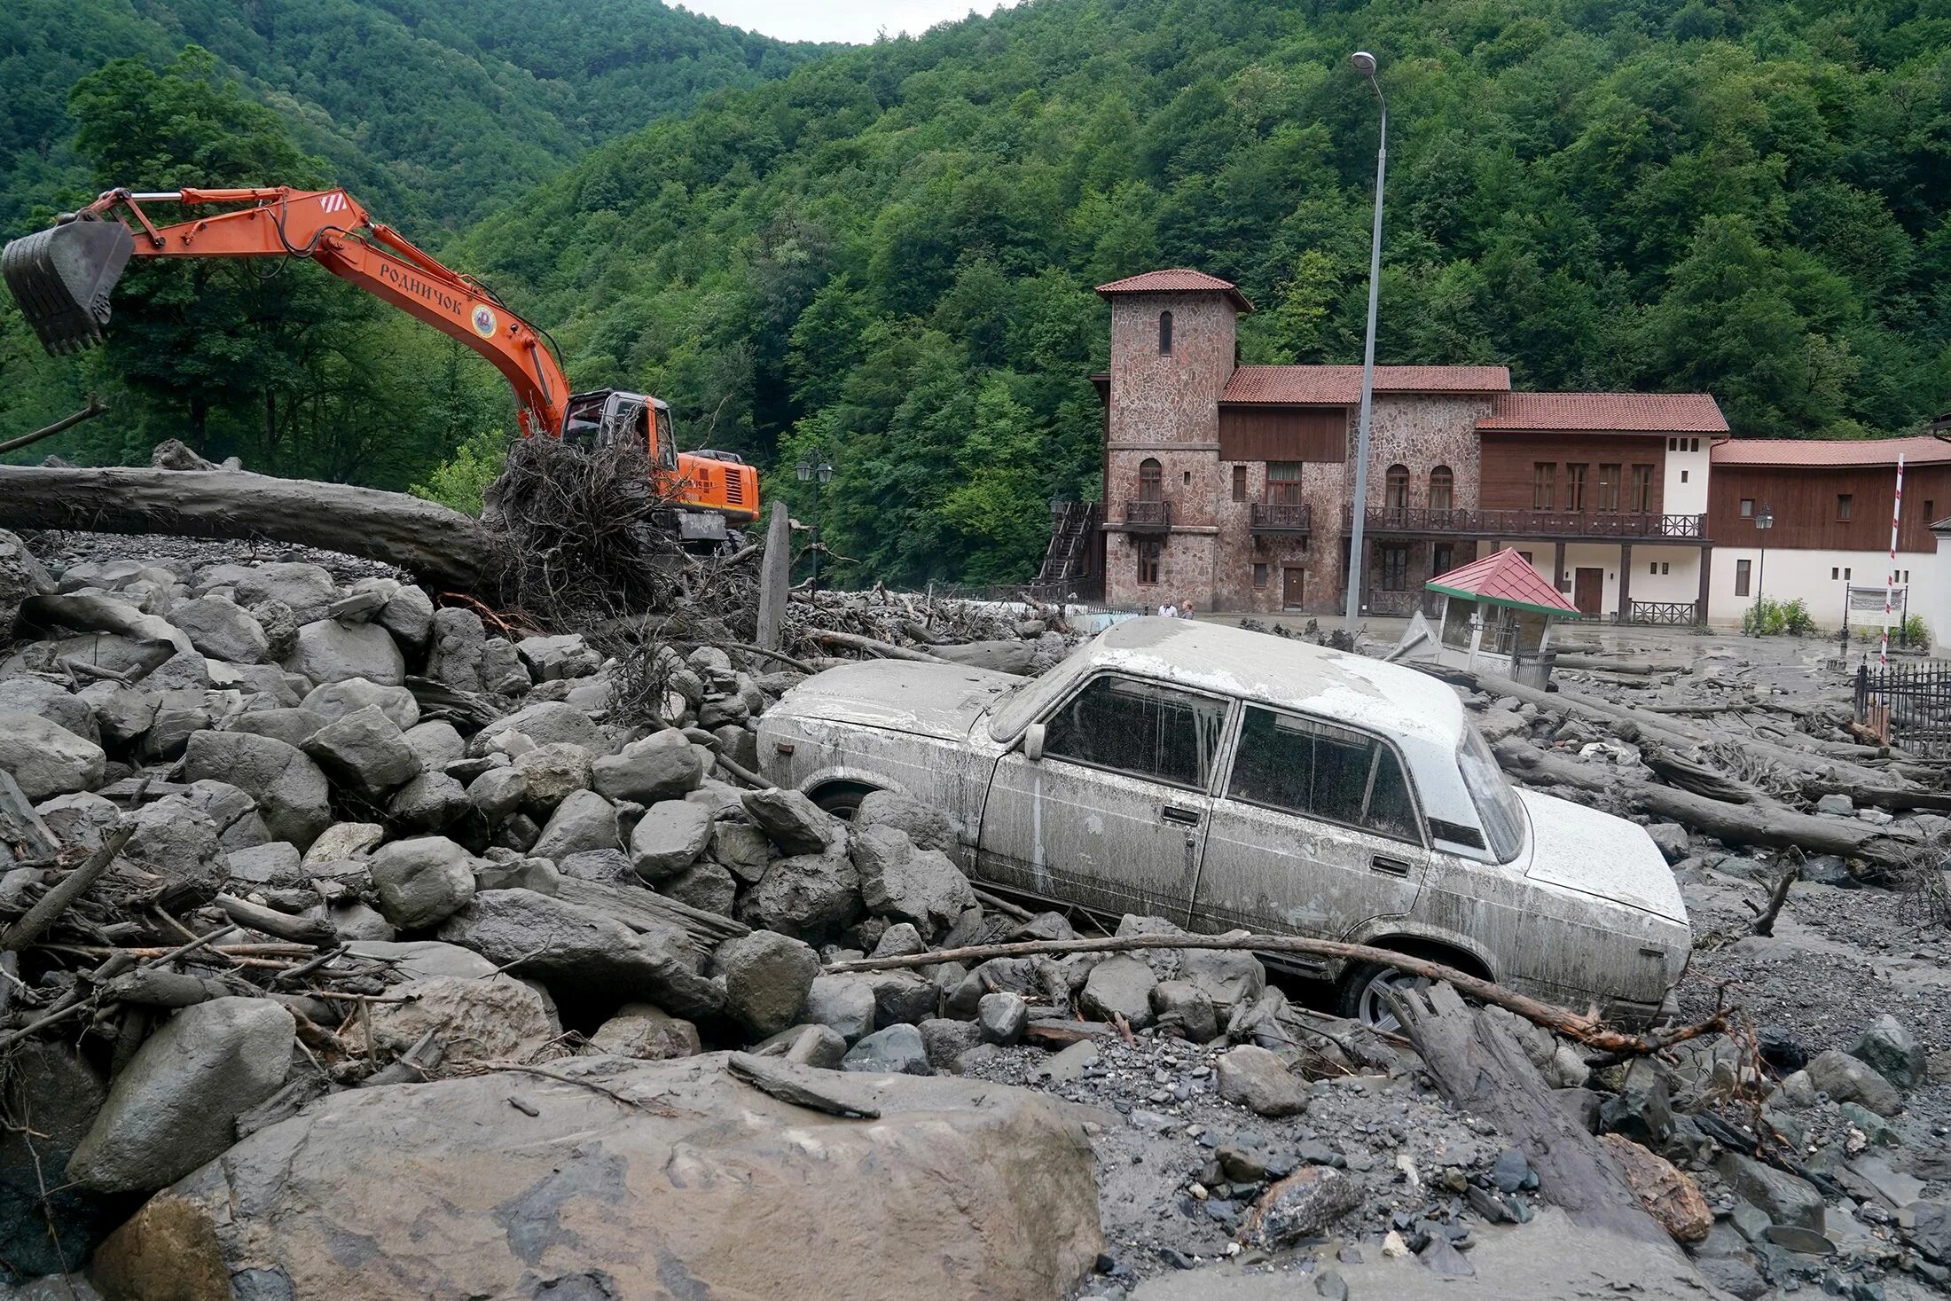
[(1744, 435), (1951, 406), (1951, 16), (1896, 2), (1032, 0), (718, 96), (462, 250), (577, 382), (823, 445), (858, 573), (1020, 577), (1095, 492), (1091, 285), (1202, 267), (1249, 361), (1360, 357), (1362, 47), (1385, 361), (1707, 388)]

